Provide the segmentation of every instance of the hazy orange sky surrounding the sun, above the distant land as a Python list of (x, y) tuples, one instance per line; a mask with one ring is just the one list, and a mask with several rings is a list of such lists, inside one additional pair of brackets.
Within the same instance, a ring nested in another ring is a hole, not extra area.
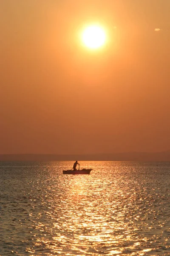
[(0, 154), (163, 150), (170, 0), (0, 0)]

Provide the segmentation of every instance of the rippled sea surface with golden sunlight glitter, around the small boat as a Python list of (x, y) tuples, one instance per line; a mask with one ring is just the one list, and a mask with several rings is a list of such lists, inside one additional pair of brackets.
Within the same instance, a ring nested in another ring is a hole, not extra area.
[(0, 256), (170, 256), (170, 163), (73, 163), (0, 163)]

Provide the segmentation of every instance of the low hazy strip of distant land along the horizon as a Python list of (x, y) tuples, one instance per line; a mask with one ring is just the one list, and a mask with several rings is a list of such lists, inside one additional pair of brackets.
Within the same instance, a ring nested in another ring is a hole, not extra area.
[(109, 154), (0, 154), (0, 161), (170, 161), (170, 151)]

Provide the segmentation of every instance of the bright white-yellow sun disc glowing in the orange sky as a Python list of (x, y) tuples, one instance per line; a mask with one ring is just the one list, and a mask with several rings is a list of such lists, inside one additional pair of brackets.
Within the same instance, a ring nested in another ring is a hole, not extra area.
[(88, 26), (82, 33), (82, 41), (90, 49), (102, 47), (106, 41), (105, 30), (96, 25)]

